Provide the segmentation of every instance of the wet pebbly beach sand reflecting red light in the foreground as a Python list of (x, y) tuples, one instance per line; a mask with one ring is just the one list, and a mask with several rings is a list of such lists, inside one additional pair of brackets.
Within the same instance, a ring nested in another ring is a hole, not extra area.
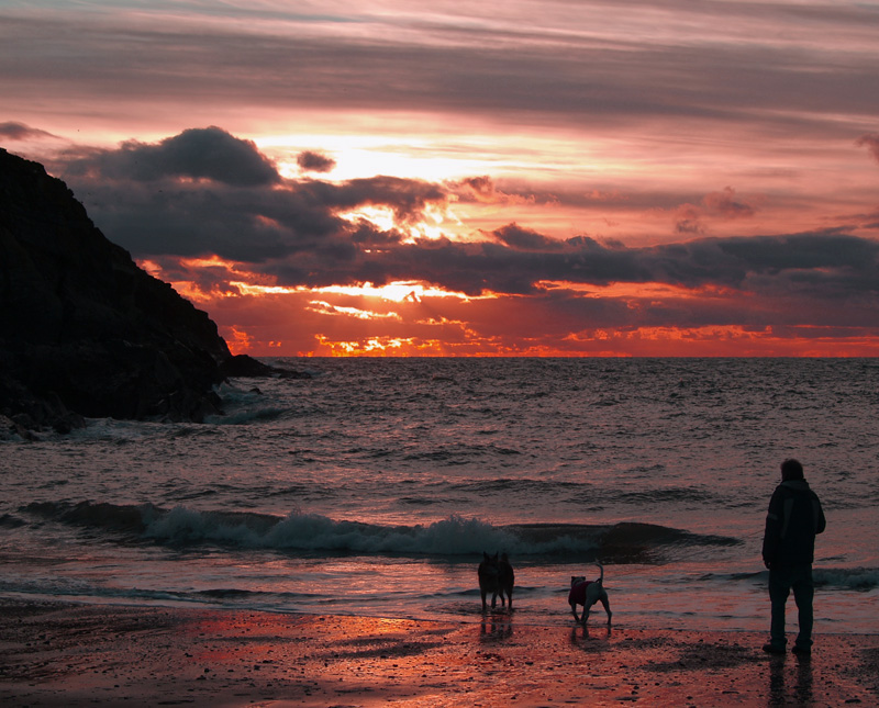
[(538, 620), (0, 599), (0, 705), (879, 705), (878, 636), (821, 636), (800, 660), (753, 632)]

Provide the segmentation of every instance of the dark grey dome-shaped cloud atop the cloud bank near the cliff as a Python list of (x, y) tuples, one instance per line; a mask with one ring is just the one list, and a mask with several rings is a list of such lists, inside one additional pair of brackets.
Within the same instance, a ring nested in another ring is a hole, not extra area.
[(219, 127), (190, 128), (157, 145), (135, 141), (118, 150), (100, 150), (68, 171), (97, 169), (104, 178), (141, 182), (164, 178), (210, 179), (233, 187), (272, 184), (280, 180), (274, 165), (251, 141)]

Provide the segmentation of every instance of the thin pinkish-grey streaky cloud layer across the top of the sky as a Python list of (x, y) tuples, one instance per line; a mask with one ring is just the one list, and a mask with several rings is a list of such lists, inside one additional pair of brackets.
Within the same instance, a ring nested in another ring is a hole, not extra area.
[(865, 90), (876, 76), (866, 5), (671, 0), (633, 13), (613, 3), (487, 2), (419, 13), (337, 4), (320, 16), (277, 5), (269, 21), (263, 7), (225, 4), (5, 10), (0, 76), (22, 76), (25, 89), (58, 101), (112, 97), (129, 115), (144, 103), (169, 113), (182, 97), (200, 115), (227, 105), (443, 115), (466, 106), (496, 120), (612, 130), (648, 116), (841, 135), (849, 125), (839, 116), (877, 108)]

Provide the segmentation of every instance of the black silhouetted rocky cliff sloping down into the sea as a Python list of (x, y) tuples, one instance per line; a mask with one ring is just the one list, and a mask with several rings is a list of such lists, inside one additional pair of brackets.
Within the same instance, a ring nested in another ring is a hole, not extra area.
[(79, 416), (198, 422), (235, 359), (63, 181), (0, 149), (0, 415), (56, 429)]

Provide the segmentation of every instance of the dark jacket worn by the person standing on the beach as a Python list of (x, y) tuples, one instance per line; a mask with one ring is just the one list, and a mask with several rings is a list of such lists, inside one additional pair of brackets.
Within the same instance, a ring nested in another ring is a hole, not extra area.
[(763, 560), (772, 566), (810, 564), (815, 554), (815, 535), (826, 526), (821, 502), (805, 480), (788, 480), (769, 499)]

